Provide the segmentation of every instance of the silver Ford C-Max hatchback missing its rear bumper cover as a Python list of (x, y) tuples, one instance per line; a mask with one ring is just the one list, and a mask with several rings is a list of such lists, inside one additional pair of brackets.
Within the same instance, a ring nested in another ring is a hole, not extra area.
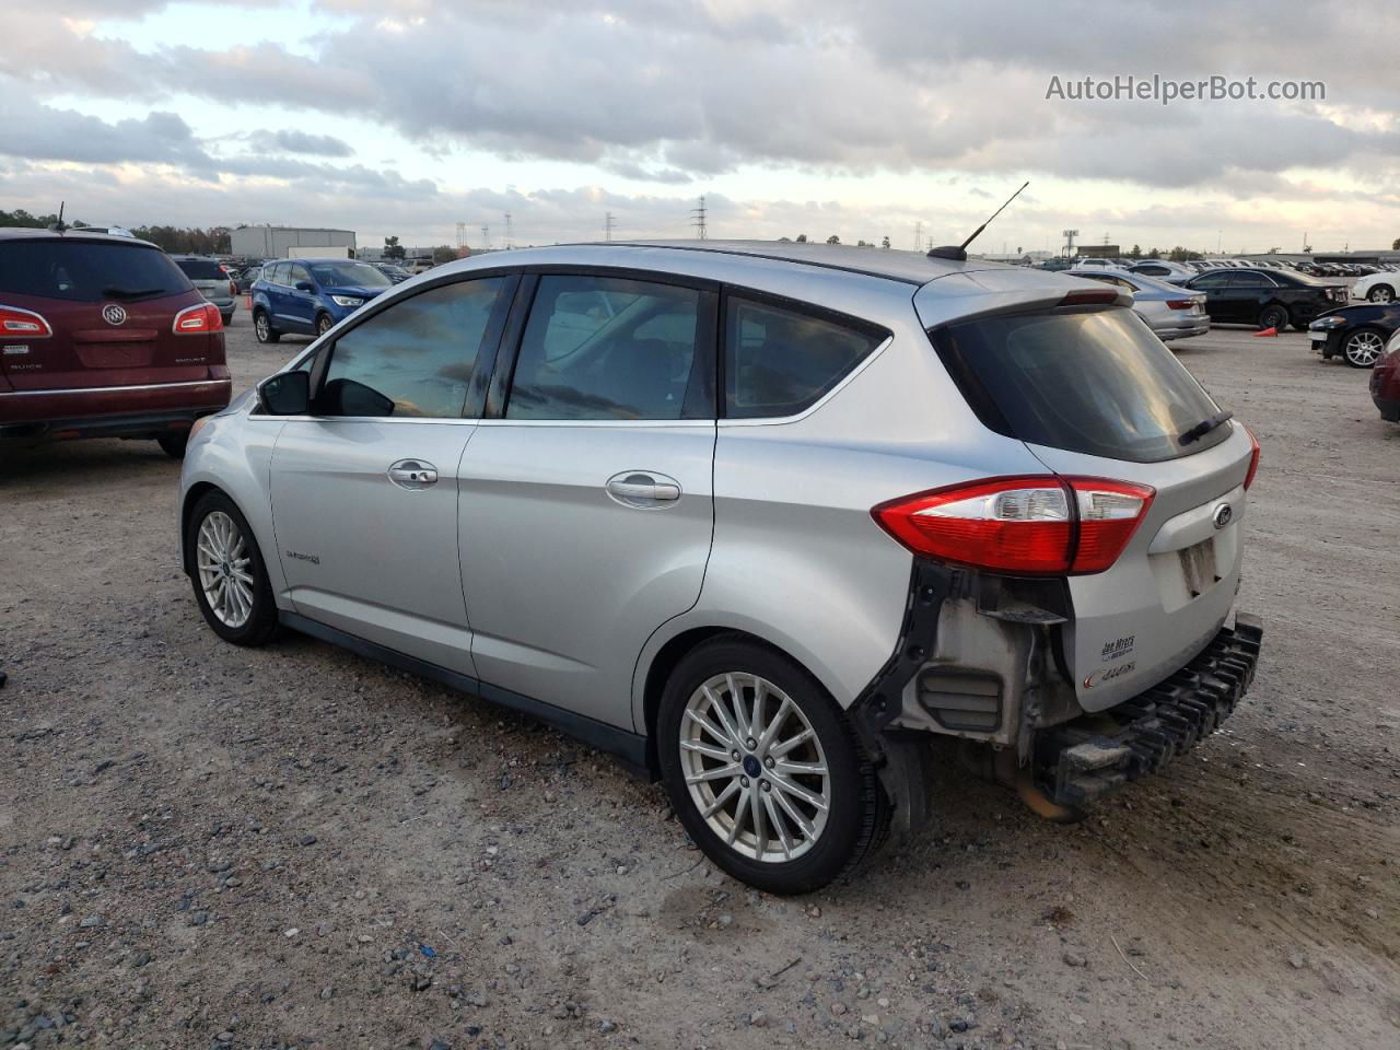
[(937, 736), (1071, 819), (1212, 732), (1259, 462), (1114, 288), (682, 242), (399, 284), (207, 419), (185, 570), (659, 777), (811, 890), (931, 808)]

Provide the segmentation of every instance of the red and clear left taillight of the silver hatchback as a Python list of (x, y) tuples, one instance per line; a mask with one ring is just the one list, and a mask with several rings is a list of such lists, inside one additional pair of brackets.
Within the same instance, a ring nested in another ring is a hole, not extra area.
[(997, 477), (875, 507), (895, 539), (941, 561), (1014, 575), (1102, 573), (1156, 490), (1103, 477)]

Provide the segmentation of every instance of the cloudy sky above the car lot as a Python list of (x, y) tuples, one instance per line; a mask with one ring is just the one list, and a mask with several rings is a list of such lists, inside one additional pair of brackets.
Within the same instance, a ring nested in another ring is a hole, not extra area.
[[(976, 248), (1389, 248), (1396, 41), (1393, 0), (6, 0), (0, 209), (500, 246), (704, 195), (711, 237), (914, 248), (1029, 181)], [(1324, 98), (1067, 87), (1130, 76)]]

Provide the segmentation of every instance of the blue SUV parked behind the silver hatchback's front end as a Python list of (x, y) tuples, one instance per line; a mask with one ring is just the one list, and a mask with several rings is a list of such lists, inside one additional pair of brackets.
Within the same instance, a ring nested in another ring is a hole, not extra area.
[(276, 343), (288, 332), (319, 336), (393, 281), (354, 259), (284, 259), (263, 266), (252, 284), (253, 332)]

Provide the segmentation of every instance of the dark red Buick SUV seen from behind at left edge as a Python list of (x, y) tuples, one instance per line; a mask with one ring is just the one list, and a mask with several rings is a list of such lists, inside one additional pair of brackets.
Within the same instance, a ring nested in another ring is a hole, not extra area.
[(76, 230), (0, 230), (0, 449), (155, 438), (228, 405), (224, 325), (160, 248)]

